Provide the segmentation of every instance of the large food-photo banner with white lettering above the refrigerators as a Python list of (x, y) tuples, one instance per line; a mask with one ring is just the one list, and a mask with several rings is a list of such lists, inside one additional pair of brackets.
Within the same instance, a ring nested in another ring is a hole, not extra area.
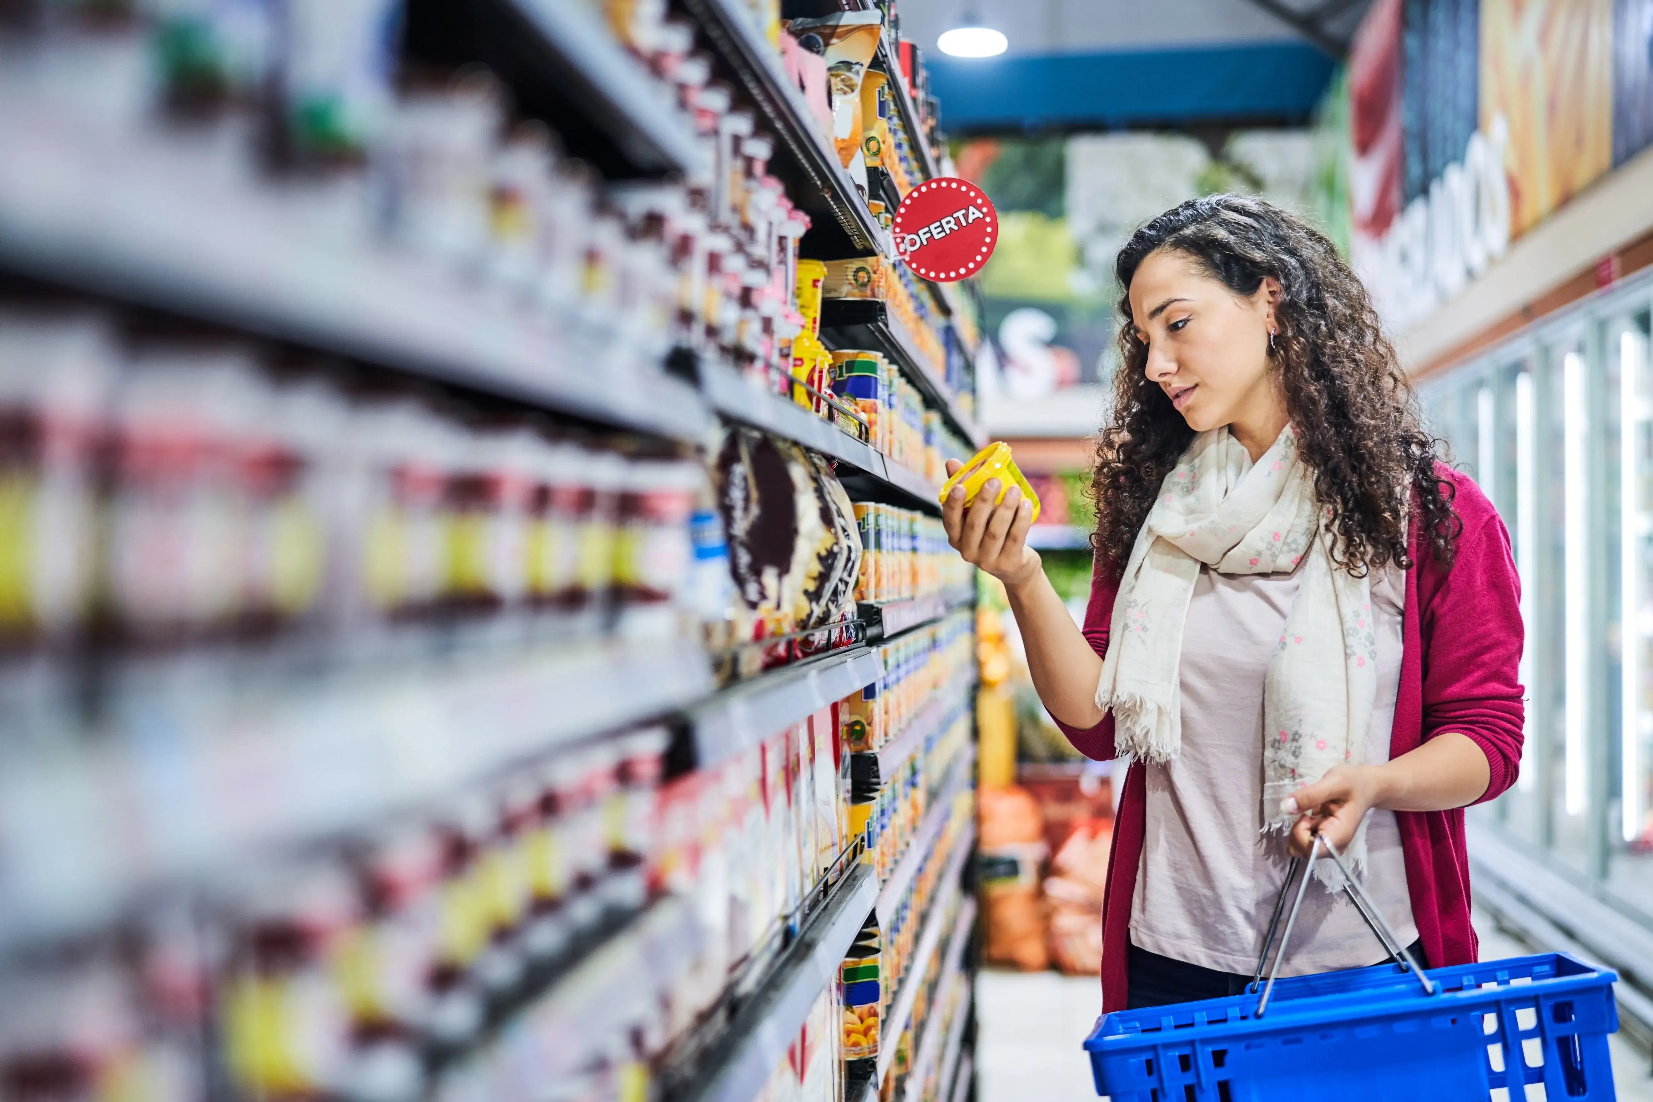
[(1403, 330), (1653, 140), (1653, 0), (1377, 0), (1327, 96), (1319, 207)]

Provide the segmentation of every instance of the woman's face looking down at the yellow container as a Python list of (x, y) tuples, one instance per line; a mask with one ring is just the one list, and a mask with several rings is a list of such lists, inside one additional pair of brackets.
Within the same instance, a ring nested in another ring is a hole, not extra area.
[(1147, 345), (1147, 377), (1193, 431), (1278, 420), (1284, 403), (1268, 370), (1278, 299), (1274, 279), (1240, 296), (1172, 249), (1137, 266), (1131, 317)]

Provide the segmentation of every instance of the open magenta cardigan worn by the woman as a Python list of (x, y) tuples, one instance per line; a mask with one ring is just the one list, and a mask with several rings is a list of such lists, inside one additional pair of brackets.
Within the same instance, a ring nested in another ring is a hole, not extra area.
[[(1509, 555), (1509, 534), (1486, 494), (1465, 474), (1440, 466), (1456, 487), (1453, 507), (1463, 520), (1458, 557), (1443, 570), (1413, 520), (1402, 618), (1400, 689), (1395, 699), (1392, 758), (1443, 730), (1468, 735), (1486, 753), (1491, 783), (1481, 801), (1503, 793), (1521, 763), (1524, 705), (1516, 667), (1521, 661), (1521, 580)], [(1413, 511), (1413, 517), (1417, 511)], [(1108, 653), (1108, 623), (1119, 578), (1101, 563), (1091, 578), (1084, 638)], [(1114, 757), (1114, 717), (1083, 730), (1058, 724), (1086, 757)], [(1124, 1009), (1131, 904), (1142, 864), (1147, 801), (1142, 763), (1131, 767), (1114, 823), (1108, 891), (1103, 899), (1103, 1013)], [(1478, 801), (1479, 803), (1479, 801)], [(1470, 925), (1470, 864), (1463, 810), (1397, 811), (1407, 864), (1412, 919), (1430, 967), (1471, 963), (1476, 937)]]

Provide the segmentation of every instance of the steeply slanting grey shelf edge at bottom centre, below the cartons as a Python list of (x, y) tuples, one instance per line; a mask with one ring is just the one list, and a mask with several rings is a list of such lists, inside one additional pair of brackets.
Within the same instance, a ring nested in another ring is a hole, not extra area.
[(787, 1046), (798, 1036), (815, 1000), (838, 978), (838, 965), (861, 932), (876, 894), (873, 871), (856, 866), (729, 1023), (724, 1039), (696, 1069), (694, 1089), (683, 1102), (750, 1102), (757, 1097), (787, 1057)]

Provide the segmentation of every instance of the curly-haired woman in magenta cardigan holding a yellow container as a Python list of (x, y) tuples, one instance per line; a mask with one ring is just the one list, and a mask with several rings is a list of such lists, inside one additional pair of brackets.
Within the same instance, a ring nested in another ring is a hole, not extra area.
[[(944, 502), (952, 545), (1005, 583), (1045, 707), (1083, 753), (1129, 760), (1104, 1011), (1238, 993), (1312, 833), (1427, 967), (1476, 960), (1461, 808), (1521, 758), (1503, 522), (1436, 461), (1365, 289), (1293, 215), (1182, 203), (1116, 274), (1083, 633), (1017, 489)], [(1321, 861), (1281, 975), (1385, 958)]]

